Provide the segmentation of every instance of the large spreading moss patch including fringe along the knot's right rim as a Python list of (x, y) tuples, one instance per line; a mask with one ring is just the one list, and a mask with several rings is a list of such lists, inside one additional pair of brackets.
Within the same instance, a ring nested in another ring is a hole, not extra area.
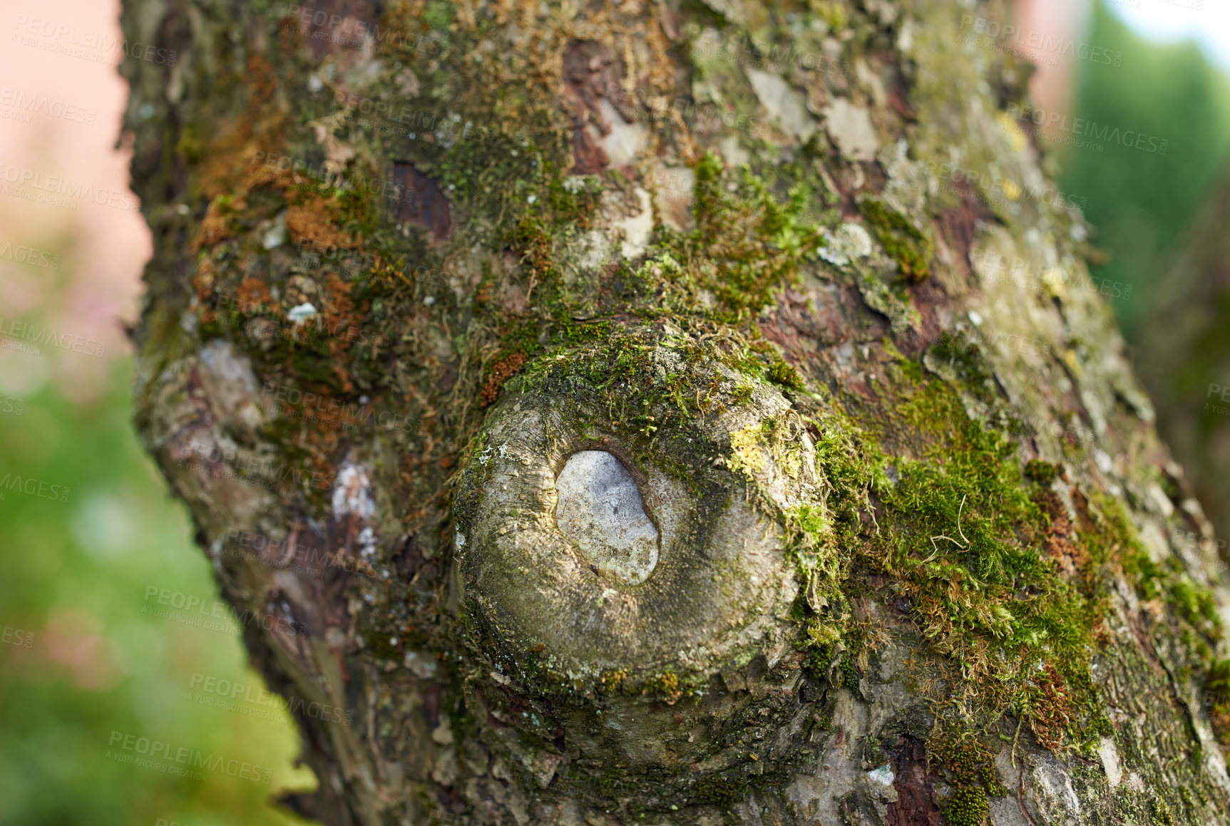
[[(843, 604), (851, 572), (866, 565), (887, 578), (886, 596), (908, 606), (931, 650), (978, 687), (988, 719), (1018, 714), (1050, 747), (1091, 749), (1107, 730), (1089, 661), (1106, 611), (1109, 546), (1060, 572), (1047, 546), (1050, 517), (1036, 500), (1039, 478), (1058, 468), (1022, 473), (1016, 439), (969, 418), (962, 393), (989, 379), (977, 348), (946, 338), (927, 363), (942, 363), (952, 379), (903, 369), (893, 381), (898, 401), (863, 428), (836, 411), (813, 423), (824, 508), (786, 519), (798, 537), (791, 553), (823, 604), (803, 621), (808, 663), (820, 672), (843, 650), (838, 670), (856, 683), (859, 642)], [(1187, 605), (1204, 616), (1198, 596)], [(963, 804), (969, 811), (975, 798)]]

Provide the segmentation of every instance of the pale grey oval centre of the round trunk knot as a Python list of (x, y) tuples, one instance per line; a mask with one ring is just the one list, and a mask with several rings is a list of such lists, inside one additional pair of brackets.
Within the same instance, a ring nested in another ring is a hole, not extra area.
[(647, 580), (658, 564), (658, 529), (624, 463), (604, 450), (582, 450), (555, 486), (556, 522), (585, 560), (626, 585)]

